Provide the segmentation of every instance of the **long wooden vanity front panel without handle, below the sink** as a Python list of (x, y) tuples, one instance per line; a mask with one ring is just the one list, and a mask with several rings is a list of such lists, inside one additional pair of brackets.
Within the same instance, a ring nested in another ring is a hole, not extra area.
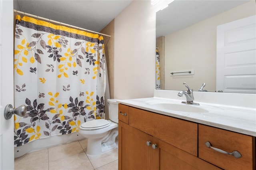
[(130, 107), (129, 125), (197, 156), (196, 123)]

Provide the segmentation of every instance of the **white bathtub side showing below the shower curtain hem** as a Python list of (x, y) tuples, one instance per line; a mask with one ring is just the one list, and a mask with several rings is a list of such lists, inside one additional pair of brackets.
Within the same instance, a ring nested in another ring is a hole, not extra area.
[(66, 144), (82, 139), (84, 139), (82, 135), (78, 134), (78, 132), (74, 132), (71, 134), (56, 135), (48, 138), (34, 140), (22, 146), (14, 147), (14, 158), (37, 150), (42, 150), (52, 146)]

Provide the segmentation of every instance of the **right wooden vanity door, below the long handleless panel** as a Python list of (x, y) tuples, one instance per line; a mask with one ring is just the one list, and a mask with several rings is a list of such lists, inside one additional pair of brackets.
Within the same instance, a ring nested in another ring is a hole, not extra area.
[(157, 145), (152, 154), (154, 170), (220, 170), (220, 168), (158, 138), (154, 137), (152, 144)]

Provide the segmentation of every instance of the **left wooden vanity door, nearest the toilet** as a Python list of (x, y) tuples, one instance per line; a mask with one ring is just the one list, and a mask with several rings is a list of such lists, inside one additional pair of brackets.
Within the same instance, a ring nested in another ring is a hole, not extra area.
[(118, 170), (150, 170), (153, 137), (122, 121), (118, 122)]

